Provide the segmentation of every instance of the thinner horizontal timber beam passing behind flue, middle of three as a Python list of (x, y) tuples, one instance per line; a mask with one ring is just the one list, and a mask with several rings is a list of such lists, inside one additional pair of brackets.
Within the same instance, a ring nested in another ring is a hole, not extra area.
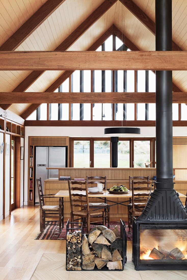
[[(6, 103), (155, 103), (155, 92), (0, 92)], [(173, 103), (187, 103), (187, 92), (173, 92)]]

